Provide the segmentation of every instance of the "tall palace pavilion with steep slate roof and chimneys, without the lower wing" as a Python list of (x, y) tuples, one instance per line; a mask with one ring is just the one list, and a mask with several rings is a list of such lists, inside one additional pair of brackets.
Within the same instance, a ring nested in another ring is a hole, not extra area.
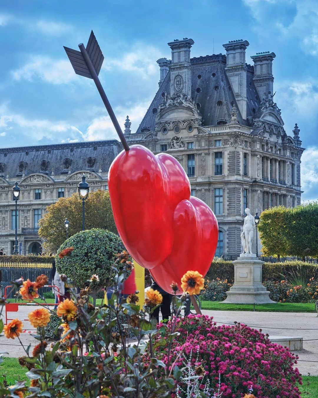
[[(287, 135), (274, 102), (274, 53), (253, 56), (254, 68), (245, 63), (248, 41), (236, 40), (224, 45), (226, 56), (190, 59), (190, 40), (169, 43), (172, 61), (158, 60), (159, 90), (137, 132), (125, 136), (129, 144), (177, 158), (192, 195), (216, 214), (217, 255), (235, 257), (246, 207), (255, 215), (300, 203), (300, 130), (296, 124), (293, 137)], [(178, 55), (184, 45), (185, 62)]]

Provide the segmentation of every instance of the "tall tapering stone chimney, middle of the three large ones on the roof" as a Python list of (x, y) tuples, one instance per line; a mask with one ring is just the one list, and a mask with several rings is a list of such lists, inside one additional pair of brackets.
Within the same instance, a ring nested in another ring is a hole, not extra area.
[(249, 46), (247, 40), (239, 39), (232, 40), (224, 44), (226, 50), (226, 67), (225, 72), (229, 81), (237, 106), (241, 112), (242, 118), (246, 119), (246, 71), (247, 66), (245, 63), (245, 50)]

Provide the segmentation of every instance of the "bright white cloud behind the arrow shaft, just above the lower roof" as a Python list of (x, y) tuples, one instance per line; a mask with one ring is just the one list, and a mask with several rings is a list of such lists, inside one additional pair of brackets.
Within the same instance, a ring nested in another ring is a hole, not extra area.
[[(126, 116), (129, 115), (129, 119), (131, 121), (131, 131), (134, 133), (137, 130), (141, 120), (145, 116), (149, 103), (150, 100), (144, 101), (143, 103), (135, 106), (127, 105), (125, 109), (123, 109), (123, 107), (117, 107), (116, 109), (114, 109), (118, 118), (118, 123), (121, 128), (123, 129)], [(108, 115), (96, 117), (93, 119), (93, 121), (87, 128), (87, 131), (85, 133), (85, 139), (89, 141), (104, 139), (119, 140), (113, 123)]]

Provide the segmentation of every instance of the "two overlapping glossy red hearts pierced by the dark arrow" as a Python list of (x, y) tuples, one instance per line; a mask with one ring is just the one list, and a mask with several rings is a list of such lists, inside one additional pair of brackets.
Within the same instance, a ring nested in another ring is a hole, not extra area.
[(129, 254), (171, 293), (190, 269), (205, 275), (218, 242), (212, 210), (190, 196), (190, 182), (173, 156), (142, 145), (122, 151), (108, 172), (118, 233)]

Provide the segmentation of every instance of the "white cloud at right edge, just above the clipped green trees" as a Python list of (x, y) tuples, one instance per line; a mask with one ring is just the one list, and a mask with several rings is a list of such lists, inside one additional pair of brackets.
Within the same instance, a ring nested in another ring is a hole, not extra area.
[(304, 199), (318, 199), (318, 146), (310, 146), (301, 157), (301, 189)]

